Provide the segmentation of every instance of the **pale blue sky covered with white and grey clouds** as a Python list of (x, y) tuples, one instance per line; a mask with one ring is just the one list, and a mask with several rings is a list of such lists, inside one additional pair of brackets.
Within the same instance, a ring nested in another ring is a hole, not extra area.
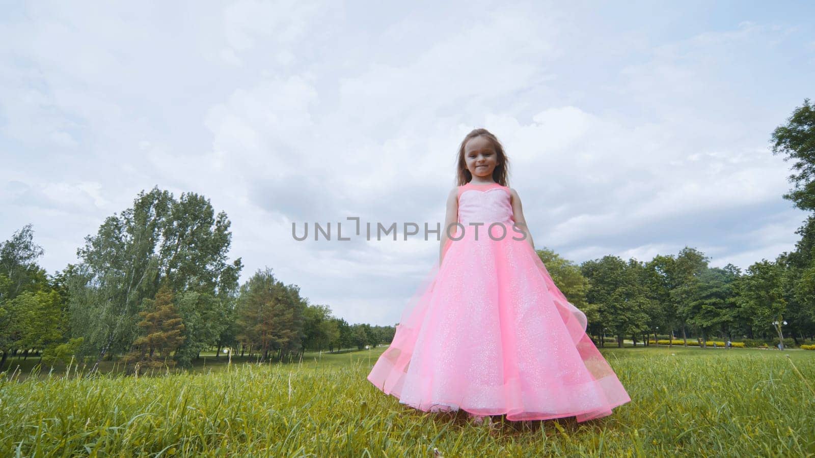
[(438, 260), (402, 225), (443, 222), (482, 127), (537, 249), (742, 270), (794, 249), (769, 142), (815, 98), (812, 2), (443, 3), (0, 1), (0, 240), (33, 224), (52, 274), (140, 191), (196, 192), (242, 282), (270, 267), (394, 324)]

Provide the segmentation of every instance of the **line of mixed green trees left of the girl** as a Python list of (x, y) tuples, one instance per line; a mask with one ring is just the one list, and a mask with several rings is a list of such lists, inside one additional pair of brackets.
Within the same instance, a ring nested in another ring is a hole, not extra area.
[(348, 324), (311, 304), (271, 269), (245, 284), (230, 261), (231, 222), (195, 193), (154, 187), (106, 218), (77, 249), (80, 262), (47, 275), (26, 225), (0, 244), (0, 370), (8, 356), (121, 357), (188, 368), (201, 350), (230, 348), (260, 361), (305, 350), (376, 346), (394, 327)]

